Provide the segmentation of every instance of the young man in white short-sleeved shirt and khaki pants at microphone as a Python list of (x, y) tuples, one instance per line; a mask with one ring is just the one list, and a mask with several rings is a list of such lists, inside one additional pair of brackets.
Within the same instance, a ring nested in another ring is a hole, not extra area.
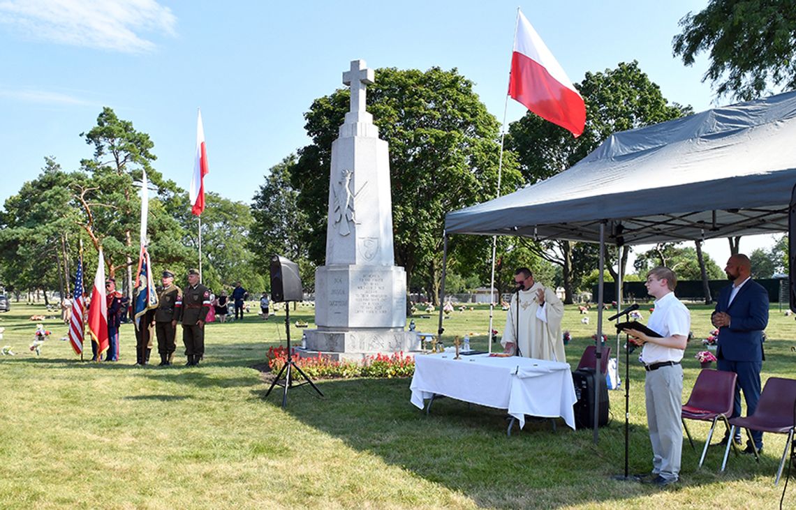
[(679, 480), (683, 430), (683, 359), (691, 329), (691, 314), (674, 296), (677, 276), (668, 267), (656, 267), (647, 273), (646, 288), (655, 298), (655, 310), (647, 326), (661, 335), (650, 337), (628, 329), (636, 345), (642, 345), (641, 360), (646, 368), (647, 426), (652, 442), (652, 473), (640, 477), (642, 483), (665, 487)]

